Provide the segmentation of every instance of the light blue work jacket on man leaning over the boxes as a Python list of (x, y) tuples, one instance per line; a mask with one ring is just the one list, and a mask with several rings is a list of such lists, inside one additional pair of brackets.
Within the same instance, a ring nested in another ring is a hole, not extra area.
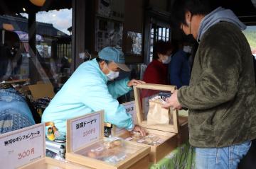
[(119, 105), (117, 98), (132, 90), (125, 78), (107, 85), (96, 59), (81, 64), (58, 91), (43, 112), (42, 122), (54, 122), (60, 133), (66, 133), (66, 120), (105, 110), (105, 122), (132, 129), (132, 116)]

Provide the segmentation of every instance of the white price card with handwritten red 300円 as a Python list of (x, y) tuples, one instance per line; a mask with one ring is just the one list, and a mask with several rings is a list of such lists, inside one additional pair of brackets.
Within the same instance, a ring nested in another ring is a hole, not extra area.
[(0, 134), (0, 168), (13, 169), (46, 156), (44, 124)]

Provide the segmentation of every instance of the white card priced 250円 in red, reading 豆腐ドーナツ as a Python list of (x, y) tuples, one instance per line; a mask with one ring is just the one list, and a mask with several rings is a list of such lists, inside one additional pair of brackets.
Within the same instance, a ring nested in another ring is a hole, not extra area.
[(102, 126), (101, 113), (95, 112), (85, 117), (78, 117), (74, 120), (68, 120), (71, 123), (71, 147), (72, 150), (98, 141)]

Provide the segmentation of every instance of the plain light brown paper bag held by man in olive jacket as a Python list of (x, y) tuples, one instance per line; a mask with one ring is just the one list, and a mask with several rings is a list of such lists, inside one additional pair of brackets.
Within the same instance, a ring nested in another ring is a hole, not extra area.
[(169, 109), (162, 108), (163, 101), (149, 100), (147, 124), (169, 124), (171, 115)]

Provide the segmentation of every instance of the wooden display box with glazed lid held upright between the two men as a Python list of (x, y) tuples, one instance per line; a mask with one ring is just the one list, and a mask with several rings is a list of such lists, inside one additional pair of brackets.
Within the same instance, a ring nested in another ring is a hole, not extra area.
[[(176, 86), (150, 83), (134, 86), (134, 98), (138, 124), (146, 129), (149, 136), (153, 134), (162, 139), (162, 142), (159, 141), (159, 144), (150, 145), (150, 161), (153, 163), (156, 163), (161, 160), (161, 158), (164, 158), (164, 156), (174, 150), (174, 148), (181, 145), (188, 139), (187, 117), (179, 116), (177, 110), (172, 110), (170, 108), (167, 110), (169, 111), (169, 120), (165, 122), (164, 120), (168, 118), (166, 118), (167, 116), (163, 116), (164, 114), (161, 114), (161, 109), (163, 108), (159, 106), (157, 109), (156, 107), (153, 109), (152, 105), (150, 105), (150, 101), (154, 100), (155, 98), (157, 98), (158, 101), (160, 100), (161, 104), (164, 104), (164, 102), (171, 96), (172, 93), (174, 93), (175, 90)], [(149, 116), (149, 110), (156, 113), (154, 116), (155, 118)], [(160, 116), (165, 118), (160, 118)], [(148, 117), (151, 117), (151, 122), (149, 122)], [(132, 134), (130, 132), (126, 132), (124, 134), (119, 134), (119, 136), (127, 139), (131, 137)], [(142, 144), (146, 144), (146, 142), (142, 142)]]

